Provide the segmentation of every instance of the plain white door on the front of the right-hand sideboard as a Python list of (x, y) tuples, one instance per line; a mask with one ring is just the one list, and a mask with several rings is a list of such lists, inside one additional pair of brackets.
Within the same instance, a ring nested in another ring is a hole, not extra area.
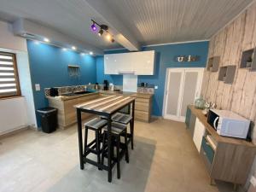
[(196, 118), (193, 141), (195, 143), (195, 147), (197, 148), (198, 152), (200, 152), (202, 137), (205, 135), (205, 133), (206, 133), (205, 126), (201, 123), (201, 121), (198, 118)]

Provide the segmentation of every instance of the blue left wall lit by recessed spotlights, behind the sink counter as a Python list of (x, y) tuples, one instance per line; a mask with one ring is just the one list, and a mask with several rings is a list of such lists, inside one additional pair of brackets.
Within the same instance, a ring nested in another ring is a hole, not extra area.
[[(27, 49), (32, 76), (35, 108), (48, 106), (44, 97), (44, 88), (65, 85), (96, 83), (96, 58), (90, 55), (80, 55), (73, 50), (62, 50), (49, 44), (35, 44), (27, 40)], [(67, 65), (79, 65), (79, 79), (69, 78)], [(40, 84), (41, 90), (35, 91), (34, 85)], [(38, 119), (38, 114), (37, 114)], [(38, 120), (38, 126), (40, 122)]]

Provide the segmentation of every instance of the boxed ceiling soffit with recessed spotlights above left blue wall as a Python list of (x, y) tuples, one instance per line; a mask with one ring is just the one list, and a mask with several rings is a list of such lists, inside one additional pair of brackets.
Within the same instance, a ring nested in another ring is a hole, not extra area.
[(67, 49), (71, 49), (72, 46), (75, 46), (77, 47), (77, 51), (84, 52), (85, 54), (92, 51), (94, 55), (103, 55), (102, 49), (98, 49), (93, 45), (71, 38), (70, 36), (55, 31), (48, 26), (39, 25), (31, 20), (15, 20), (13, 23), (13, 30), (15, 35), (19, 35), (23, 38), (30, 38), (39, 41), (44, 38), (49, 38), (50, 44), (54, 44), (56, 46)]

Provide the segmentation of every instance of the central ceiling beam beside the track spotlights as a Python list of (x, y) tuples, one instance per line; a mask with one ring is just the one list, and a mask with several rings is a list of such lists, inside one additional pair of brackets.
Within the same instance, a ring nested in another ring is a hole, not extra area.
[(113, 34), (113, 38), (116, 42), (131, 51), (141, 49), (137, 38), (135, 38), (124, 23), (114, 15), (113, 10), (108, 7), (108, 4), (104, 0), (85, 1), (88, 3), (88, 6), (100, 16), (101, 20), (105, 22), (104, 24), (110, 27), (109, 32)]

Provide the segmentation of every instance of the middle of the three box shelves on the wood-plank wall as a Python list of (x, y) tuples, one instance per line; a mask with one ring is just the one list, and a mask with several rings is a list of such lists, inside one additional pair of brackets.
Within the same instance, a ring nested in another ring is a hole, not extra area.
[(219, 68), (218, 80), (225, 84), (232, 84), (236, 75), (236, 66), (224, 66)]

